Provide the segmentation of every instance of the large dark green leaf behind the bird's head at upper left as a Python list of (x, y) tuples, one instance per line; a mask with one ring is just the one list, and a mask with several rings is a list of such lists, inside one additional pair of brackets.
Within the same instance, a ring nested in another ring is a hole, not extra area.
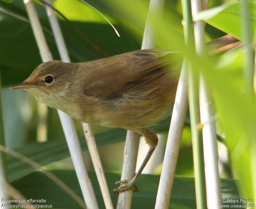
[[(79, 1), (77, 2), (79, 3)], [(62, 5), (61, 1), (58, 3)], [(27, 18), (27, 12), (22, 1), (13, 0), (10, 3), (0, 1), (0, 6), (1, 8), (8, 9), (9, 11)], [(85, 4), (82, 4), (80, 7), (88, 9), (88, 6)], [(47, 29), (47, 31), (51, 31), (44, 6), (36, 4), (36, 9), (39, 13), (42, 26)], [(92, 10), (92, 12), (94, 11)], [(86, 13), (72, 12), (72, 15), (77, 14), (84, 17), (90, 16), (90, 14), (86, 16)], [(95, 12), (95, 15), (99, 14)], [(112, 27), (110, 27), (100, 15), (99, 19), (96, 18), (94, 21), (92, 21), (90, 17), (88, 18), (86, 22), (82, 22), (78, 17), (77, 19), (72, 18), (72, 24), (86, 36), (85, 39), (81, 37), (68, 22), (60, 19), (60, 27), (72, 62), (84, 62), (140, 48), (142, 30), (140, 30), (141, 35), (138, 40), (138, 34), (131, 32), (132, 28), (134, 29), (136, 27), (130, 26), (131, 30), (127, 30), (125, 26), (127, 23), (118, 21), (115, 26), (121, 34), (121, 37), (117, 37)], [(113, 21), (115, 22), (116, 19)], [(15, 19), (0, 11), (0, 26), (2, 85), (10, 86), (24, 81), (42, 61), (29, 23)], [(45, 36), (53, 58), (60, 59), (54, 37), (49, 32), (45, 32)], [(92, 47), (92, 44), (95, 45), (95, 47)], [(101, 51), (104, 52), (104, 54), (102, 54)]]

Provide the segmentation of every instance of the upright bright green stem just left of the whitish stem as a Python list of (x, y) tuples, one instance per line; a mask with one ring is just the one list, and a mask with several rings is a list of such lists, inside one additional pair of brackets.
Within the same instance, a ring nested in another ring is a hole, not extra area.
[[(189, 50), (195, 52), (194, 42), (194, 27), (191, 13), (190, 0), (182, 0), (184, 34), (185, 41)], [(193, 160), (195, 173), (195, 188), (196, 188), (196, 207), (197, 209), (205, 209), (206, 206), (206, 191), (205, 191), (205, 176), (204, 176), (204, 153), (202, 129), (198, 128), (200, 124), (199, 111), (199, 73), (196, 73), (189, 66), (188, 72), (188, 99), (190, 109), (190, 121), (192, 132)]]

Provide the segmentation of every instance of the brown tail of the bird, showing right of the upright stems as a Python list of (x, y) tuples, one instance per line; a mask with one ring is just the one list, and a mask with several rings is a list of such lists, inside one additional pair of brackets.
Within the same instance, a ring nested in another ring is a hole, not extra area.
[(244, 42), (234, 38), (231, 35), (225, 35), (223, 37), (217, 38), (206, 44), (207, 51), (210, 55), (214, 55), (220, 52), (224, 52), (230, 49), (234, 49), (243, 45)]

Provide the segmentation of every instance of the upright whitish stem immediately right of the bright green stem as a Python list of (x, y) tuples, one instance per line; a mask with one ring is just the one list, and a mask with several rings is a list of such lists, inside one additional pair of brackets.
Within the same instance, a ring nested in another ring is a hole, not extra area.
[[(203, 7), (203, 3), (204, 7)], [(203, 9), (206, 9), (208, 0), (191, 0), (192, 13), (196, 15)], [(205, 39), (204, 39), (204, 21), (197, 21), (194, 25), (196, 53), (204, 57)], [(220, 207), (220, 175), (218, 166), (217, 139), (212, 111), (212, 102), (210, 94), (207, 92), (203, 75), (200, 75), (200, 120), (203, 124), (203, 147), (204, 147), (204, 170), (207, 194), (207, 208), (216, 209)]]

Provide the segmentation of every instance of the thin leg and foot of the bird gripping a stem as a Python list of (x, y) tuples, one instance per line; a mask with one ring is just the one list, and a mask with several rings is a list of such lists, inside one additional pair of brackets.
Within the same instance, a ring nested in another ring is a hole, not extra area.
[(135, 183), (137, 182), (144, 167), (147, 165), (148, 160), (150, 159), (153, 151), (156, 148), (157, 142), (158, 142), (157, 135), (154, 134), (152, 131), (148, 130), (147, 128), (143, 128), (141, 133), (144, 135), (145, 141), (149, 145), (148, 153), (147, 153), (145, 159), (143, 160), (137, 174), (131, 180), (121, 180), (121, 181), (116, 182), (116, 184), (120, 184), (120, 183), (122, 184), (117, 189), (114, 189), (114, 192), (116, 195), (118, 195), (119, 192), (126, 191), (129, 189), (132, 189), (133, 191), (136, 191), (136, 192), (139, 191), (137, 186), (135, 185)]

